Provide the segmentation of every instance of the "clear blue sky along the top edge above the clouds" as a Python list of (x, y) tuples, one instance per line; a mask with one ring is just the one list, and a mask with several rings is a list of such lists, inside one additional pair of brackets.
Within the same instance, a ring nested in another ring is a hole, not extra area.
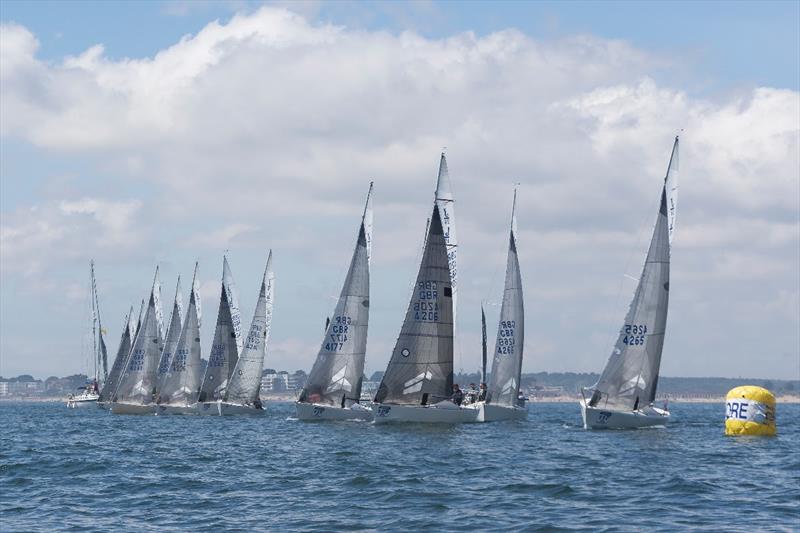
[[(58, 60), (103, 43), (111, 58), (152, 56), (214, 19), (253, 11), (261, 2), (36, 2), (6, 0), (2, 20), (30, 28), (41, 57)], [(692, 89), (764, 84), (800, 86), (800, 3), (765, 2), (326, 2), (301, 11), (332, 24), (413, 30), (441, 38), (514, 27), (541, 39), (592, 34), (686, 58), (704, 73)]]

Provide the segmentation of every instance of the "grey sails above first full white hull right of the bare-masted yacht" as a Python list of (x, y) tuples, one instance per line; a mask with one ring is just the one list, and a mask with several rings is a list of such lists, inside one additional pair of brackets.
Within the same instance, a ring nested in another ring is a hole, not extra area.
[(149, 404), (153, 401), (158, 359), (164, 345), (158, 329), (156, 311), (156, 295), (160, 291), (161, 284), (158, 279), (158, 268), (156, 268), (150, 299), (120, 377), (114, 401), (141, 404)]

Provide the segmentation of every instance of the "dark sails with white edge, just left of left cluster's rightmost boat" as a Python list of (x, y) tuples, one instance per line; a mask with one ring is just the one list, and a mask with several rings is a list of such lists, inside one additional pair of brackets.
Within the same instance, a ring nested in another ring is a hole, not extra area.
[(233, 283), (228, 258), (222, 260), (222, 289), (220, 291), (217, 327), (208, 357), (206, 373), (200, 386), (199, 401), (219, 400), (242, 352), (241, 313), (239, 295)]

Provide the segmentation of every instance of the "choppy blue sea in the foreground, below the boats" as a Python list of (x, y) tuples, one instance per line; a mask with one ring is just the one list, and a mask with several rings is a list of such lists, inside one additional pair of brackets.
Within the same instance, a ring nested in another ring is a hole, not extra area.
[(800, 405), (776, 438), (723, 406), (668, 429), (580, 428), (577, 405), (463, 426), (114, 416), (0, 404), (3, 531), (796, 530)]

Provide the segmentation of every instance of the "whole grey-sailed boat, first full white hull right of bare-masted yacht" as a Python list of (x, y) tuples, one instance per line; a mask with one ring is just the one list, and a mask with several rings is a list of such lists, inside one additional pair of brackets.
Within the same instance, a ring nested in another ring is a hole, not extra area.
[(141, 325), (111, 401), (115, 414), (152, 414), (158, 360), (164, 346), (161, 282), (158, 267)]

